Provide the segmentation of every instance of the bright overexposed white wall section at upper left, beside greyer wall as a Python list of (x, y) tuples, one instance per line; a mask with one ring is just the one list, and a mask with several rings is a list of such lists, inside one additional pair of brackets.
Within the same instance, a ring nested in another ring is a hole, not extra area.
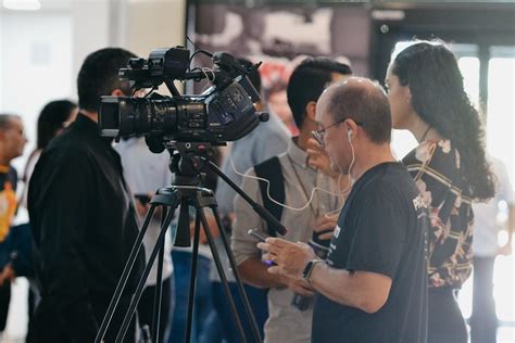
[[(3, 12), (1, 15), (0, 111), (23, 117), (29, 144), (36, 144), (36, 122), (49, 101), (70, 98), (72, 90), (72, 22), (67, 13)], [(37, 29), (35, 29), (37, 28)], [(14, 165), (22, 170), (24, 158)]]

